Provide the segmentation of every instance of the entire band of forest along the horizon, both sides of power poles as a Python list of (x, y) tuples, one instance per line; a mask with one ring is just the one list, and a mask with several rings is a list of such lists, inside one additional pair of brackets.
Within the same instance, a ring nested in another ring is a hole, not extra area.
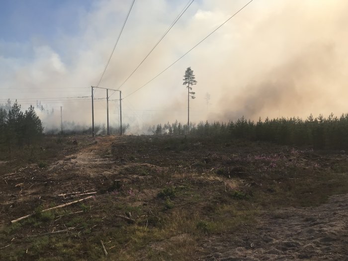
[[(50, 112), (53, 113), (53, 112)], [(72, 123), (63, 123), (63, 133), (60, 128), (46, 130), (47, 135), (75, 135), (91, 134), (91, 126)], [(123, 133), (129, 128), (129, 124), (123, 126)], [(104, 124), (95, 125), (96, 135), (106, 135)], [(119, 127), (110, 127), (110, 134), (118, 134)], [(21, 105), (16, 102), (0, 104), (0, 144), (2, 149), (15, 145), (19, 148), (30, 146), (44, 132), (42, 122), (35, 112), (34, 106), (23, 112)], [(249, 141), (264, 141), (280, 145), (311, 146), (315, 149), (348, 149), (348, 113), (340, 117), (331, 113), (328, 117), (312, 114), (306, 119), (300, 117), (261, 118), (255, 122), (244, 116), (228, 122), (190, 122), (187, 124), (177, 120), (174, 123), (148, 126), (143, 134), (184, 136), (192, 135), (201, 138), (220, 138), (228, 140), (242, 139)]]

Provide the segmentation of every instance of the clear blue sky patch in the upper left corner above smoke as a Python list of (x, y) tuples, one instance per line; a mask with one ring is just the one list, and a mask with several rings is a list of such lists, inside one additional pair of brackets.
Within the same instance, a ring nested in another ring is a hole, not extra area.
[(74, 34), (79, 30), (81, 15), (90, 10), (91, 3), (91, 0), (0, 0), (0, 39), (52, 40), (61, 32)]

